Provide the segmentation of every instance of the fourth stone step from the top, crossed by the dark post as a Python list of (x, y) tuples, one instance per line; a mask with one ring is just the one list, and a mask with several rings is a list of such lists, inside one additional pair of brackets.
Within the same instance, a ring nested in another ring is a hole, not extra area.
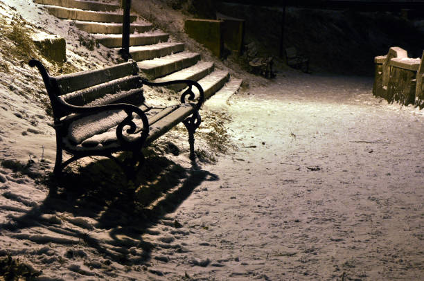
[[(118, 48), (122, 46), (121, 34), (94, 34), (96, 41), (107, 48)], [(130, 46), (153, 45), (168, 41), (168, 33), (154, 31), (152, 33), (141, 33), (130, 35)]]

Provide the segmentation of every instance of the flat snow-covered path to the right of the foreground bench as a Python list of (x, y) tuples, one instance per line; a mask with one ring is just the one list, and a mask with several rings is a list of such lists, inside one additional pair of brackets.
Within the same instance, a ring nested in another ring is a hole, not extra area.
[(246, 148), (204, 167), (219, 180), (178, 208), (191, 234), (170, 256), (177, 275), (421, 280), (424, 118), (371, 87), (306, 75), (233, 98), (229, 129)]

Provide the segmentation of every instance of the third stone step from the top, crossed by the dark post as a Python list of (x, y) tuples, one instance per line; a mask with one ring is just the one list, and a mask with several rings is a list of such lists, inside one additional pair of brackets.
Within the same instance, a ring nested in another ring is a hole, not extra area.
[[(122, 34), (122, 24), (107, 22), (75, 21), (75, 26), (87, 33)], [(145, 33), (152, 29), (152, 24), (131, 24), (130, 32)]]

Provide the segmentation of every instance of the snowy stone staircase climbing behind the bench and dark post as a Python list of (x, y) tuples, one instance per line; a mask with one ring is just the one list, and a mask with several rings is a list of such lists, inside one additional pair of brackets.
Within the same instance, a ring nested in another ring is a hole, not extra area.
[[(116, 51), (121, 48), (123, 12), (118, 1), (34, 1), (44, 5), (51, 15), (74, 21), (77, 28), (90, 33), (98, 43), (107, 48), (114, 48)], [(210, 98), (220, 89), (224, 91), (228, 88), (234, 93), (240, 88), (239, 80), (230, 80), (228, 71), (215, 69), (212, 62), (202, 61), (200, 53), (185, 51), (184, 43), (170, 42), (167, 33), (152, 30), (152, 24), (137, 19), (136, 15), (131, 15), (130, 21), (130, 54), (139, 69), (155, 82), (196, 80), (202, 85), (206, 98)], [(229, 87), (226, 83), (238, 87)], [(172, 89), (180, 91), (183, 87), (182, 84), (177, 84), (173, 85)], [(224, 93), (228, 96), (229, 91)]]

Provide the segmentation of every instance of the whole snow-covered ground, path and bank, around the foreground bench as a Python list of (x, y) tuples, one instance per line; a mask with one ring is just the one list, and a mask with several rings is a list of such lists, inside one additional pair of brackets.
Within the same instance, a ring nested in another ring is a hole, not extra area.
[[(82, 69), (85, 52), (69, 53)], [(0, 159), (35, 163), (0, 167), (1, 266), (10, 255), (39, 280), (422, 280), (424, 116), (373, 98), (372, 79), (284, 71), (205, 105), (234, 147), (193, 166), (184, 130), (170, 132), (132, 203), (107, 162), (59, 184), (30, 177), (51, 171), (54, 132), (29, 94), (37, 71), (10, 68)]]

